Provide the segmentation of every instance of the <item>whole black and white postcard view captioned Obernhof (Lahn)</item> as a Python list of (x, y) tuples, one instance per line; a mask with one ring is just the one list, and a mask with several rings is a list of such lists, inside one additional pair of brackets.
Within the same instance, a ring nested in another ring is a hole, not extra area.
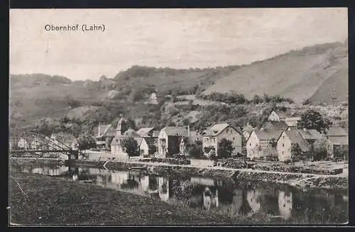
[(8, 224), (349, 223), (348, 9), (10, 9)]

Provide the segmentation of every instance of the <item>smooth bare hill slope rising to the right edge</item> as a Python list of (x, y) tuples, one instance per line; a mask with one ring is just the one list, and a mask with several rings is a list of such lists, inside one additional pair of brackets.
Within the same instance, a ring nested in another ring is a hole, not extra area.
[(244, 65), (218, 79), (204, 94), (234, 90), (249, 98), (266, 93), (299, 103), (306, 99), (329, 103), (332, 94), (334, 101), (347, 100), (347, 79), (346, 44), (327, 43)]

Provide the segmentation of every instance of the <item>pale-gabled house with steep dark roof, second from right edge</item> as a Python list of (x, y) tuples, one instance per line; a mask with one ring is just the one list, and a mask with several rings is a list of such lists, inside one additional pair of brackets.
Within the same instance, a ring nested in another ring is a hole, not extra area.
[(292, 158), (292, 146), (298, 144), (303, 153), (310, 150), (310, 143), (302, 137), (300, 130), (286, 130), (278, 138), (278, 160), (286, 161)]

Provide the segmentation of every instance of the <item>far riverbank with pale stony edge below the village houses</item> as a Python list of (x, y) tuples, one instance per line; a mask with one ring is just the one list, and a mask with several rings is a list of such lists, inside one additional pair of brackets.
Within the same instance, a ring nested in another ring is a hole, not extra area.
[(93, 160), (67, 160), (67, 163), (82, 167), (103, 167), (109, 170), (146, 167), (148, 172), (169, 175), (188, 175), (214, 178), (230, 178), (235, 181), (262, 181), (275, 184), (287, 184), (302, 189), (332, 189), (346, 190), (349, 187), (349, 177), (339, 175), (316, 175), (294, 172), (274, 172), (251, 169), (232, 169), (226, 167), (192, 167), (189, 165), (170, 165), (153, 162), (98, 162)]

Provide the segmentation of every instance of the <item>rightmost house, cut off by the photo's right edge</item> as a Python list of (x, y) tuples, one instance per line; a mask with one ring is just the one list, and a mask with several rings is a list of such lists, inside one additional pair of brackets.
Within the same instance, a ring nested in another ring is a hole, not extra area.
[(331, 158), (337, 156), (342, 147), (349, 147), (348, 132), (341, 127), (331, 127), (324, 133), (324, 138), (328, 142), (328, 153)]

